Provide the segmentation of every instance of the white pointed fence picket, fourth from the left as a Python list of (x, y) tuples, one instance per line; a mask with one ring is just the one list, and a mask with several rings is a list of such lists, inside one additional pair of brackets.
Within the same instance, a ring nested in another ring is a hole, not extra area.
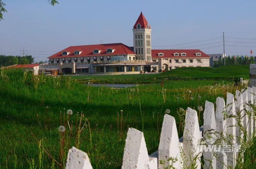
[(187, 108), (183, 133), (184, 168), (201, 168), (201, 155), (197, 153), (197, 144), (200, 136), (196, 110)]

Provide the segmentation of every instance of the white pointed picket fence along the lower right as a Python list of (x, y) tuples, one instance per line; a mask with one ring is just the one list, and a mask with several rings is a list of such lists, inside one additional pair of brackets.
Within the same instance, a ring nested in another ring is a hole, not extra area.
[[(236, 98), (236, 99), (235, 99)], [(229, 144), (241, 144), (246, 129), (246, 139), (250, 139), (255, 130), (253, 117), (244, 110), (252, 111), (256, 104), (256, 87), (236, 91), (236, 96), (227, 93), (227, 101), (216, 99), (216, 111), (212, 102), (205, 102), (204, 125), (199, 127), (197, 112), (187, 108), (183, 137), (178, 137), (174, 117), (165, 114), (158, 150), (148, 155), (143, 132), (129, 128), (125, 140), (122, 168), (157, 169), (172, 166), (174, 168), (201, 168), (201, 156), (204, 168), (234, 168), (237, 152), (197, 152), (198, 140), (202, 137), (227, 137)], [(249, 104), (248, 104), (249, 103)], [(224, 113), (226, 112), (226, 113)], [(239, 114), (240, 112), (240, 114)], [(252, 112), (253, 115), (254, 112)], [(228, 116), (228, 118), (225, 118)], [(236, 118), (240, 116), (240, 119)], [(92, 168), (87, 154), (73, 147), (68, 152), (66, 168)]]

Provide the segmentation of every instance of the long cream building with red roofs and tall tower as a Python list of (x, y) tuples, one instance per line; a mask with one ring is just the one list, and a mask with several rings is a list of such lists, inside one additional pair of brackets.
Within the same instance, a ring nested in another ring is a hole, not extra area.
[(133, 46), (122, 43), (69, 46), (48, 57), (40, 71), (59, 74), (139, 74), (176, 67), (209, 67), (210, 57), (196, 49), (152, 50), (151, 26), (142, 12), (133, 25)]

